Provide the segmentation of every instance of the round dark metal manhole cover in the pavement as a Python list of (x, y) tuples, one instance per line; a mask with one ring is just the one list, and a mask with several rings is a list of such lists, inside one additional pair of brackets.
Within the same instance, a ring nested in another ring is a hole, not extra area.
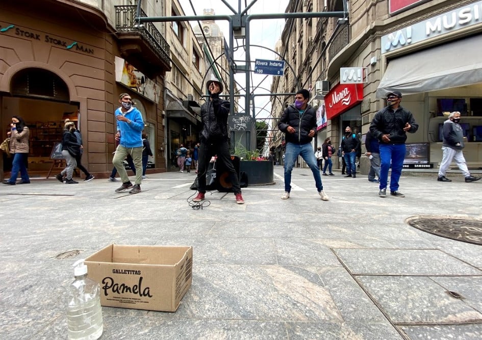
[(411, 218), (407, 223), (447, 239), (482, 245), (482, 221), (465, 218), (420, 217)]

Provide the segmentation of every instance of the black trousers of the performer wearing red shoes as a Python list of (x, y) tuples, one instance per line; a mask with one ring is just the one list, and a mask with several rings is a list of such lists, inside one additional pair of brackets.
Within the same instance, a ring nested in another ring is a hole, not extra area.
[[(216, 163), (222, 163), (224, 168), (230, 172), (234, 193), (240, 193), (241, 187), (239, 186), (238, 173), (233, 166), (233, 162), (231, 162), (231, 154), (227, 141), (216, 143), (201, 142), (201, 146), (199, 147), (199, 165), (197, 168), (197, 191), (206, 193), (206, 171), (208, 170), (208, 163), (214, 155), (217, 156)], [(216, 169), (218, 169), (218, 166), (216, 166)]]

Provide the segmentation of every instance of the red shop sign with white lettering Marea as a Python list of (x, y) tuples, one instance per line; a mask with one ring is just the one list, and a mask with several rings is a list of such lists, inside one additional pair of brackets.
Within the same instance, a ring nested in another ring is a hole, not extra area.
[(363, 84), (338, 84), (325, 95), (326, 116), (333, 119), (363, 100)]

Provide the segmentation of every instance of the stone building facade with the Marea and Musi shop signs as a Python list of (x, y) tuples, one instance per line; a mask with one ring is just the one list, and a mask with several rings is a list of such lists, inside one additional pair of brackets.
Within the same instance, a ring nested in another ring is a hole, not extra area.
[[(287, 11), (343, 10), (341, 0), (308, 0), (299, 2), (297, 8), (295, 3)], [(407, 167), (438, 167), (442, 159), (439, 130), (450, 111), (462, 113), (469, 167), (480, 167), (482, 66), (475, 56), (480, 55), (476, 41), (482, 31), (482, 3), (353, 0), (348, 2), (348, 12), (346, 22), (322, 18), (310, 24), (310, 20), (297, 19), (292, 24), (295, 34), (289, 36), (285, 28), (282, 37), (286, 42), (282, 49), (286, 46), (291, 51), (287, 60), (296, 65), (298, 78), (285, 76), (284, 81), (273, 83), (272, 90), (279, 91), (279, 84), (293, 89), (296, 82), (298, 87), (311, 86), (314, 97), (321, 99), (314, 99), (313, 104), (324, 105), (327, 120), (319, 126), (316, 143), (331, 137), (338, 145), (346, 125), (364, 141), (374, 114), (386, 105), (386, 93), (396, 90), (403, 94), (401, 105), (420, 126), (417, 133), (408, 134), (409, 149), (416, 156), (407, 157)], [(341, 84), (350, 78), (340, 75), (342, 67), (360, 68), (360, 84)], [(322, 116), (323, 110), (319, 112)], [(274, 140), (277, 144), (272, 147), (278, 148), (282, 140)], [(364, 156), (361, 164), (366, 172)]]

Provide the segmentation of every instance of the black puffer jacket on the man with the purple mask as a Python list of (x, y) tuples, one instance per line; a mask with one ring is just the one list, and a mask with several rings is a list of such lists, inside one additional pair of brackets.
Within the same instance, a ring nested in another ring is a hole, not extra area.
[[(295, 129), (294, 134), (287, 132), (288, 126)], [(316, 133), (317, 128), (315, 109), (308, 105), (305, 112), (300, 115), (294, 104), (291, 104), (281, 115), (280, 121), (278, 121), (278, 128), (285, 133), (286, 142), (294, 144), (311, 143), (313, 138), (309, 137), (308, 134), (310, 130), (314, 130)]]

